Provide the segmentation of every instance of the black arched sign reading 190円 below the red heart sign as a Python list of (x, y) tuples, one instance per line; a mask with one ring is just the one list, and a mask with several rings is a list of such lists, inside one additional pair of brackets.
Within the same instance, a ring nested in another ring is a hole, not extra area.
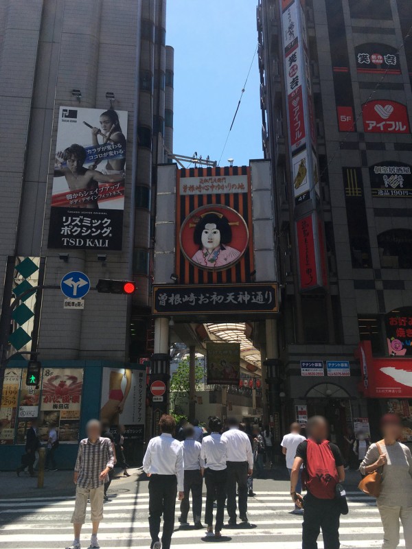
[(412, 196), (412, 166), (385, 161), (369, 167), (372, 196), (405, 198)]

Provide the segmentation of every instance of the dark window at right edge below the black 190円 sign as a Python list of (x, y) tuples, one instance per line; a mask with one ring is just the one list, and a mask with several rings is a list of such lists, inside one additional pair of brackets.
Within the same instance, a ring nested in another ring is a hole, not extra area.
[(378, 235), (380, 266), (382, 269), (412, 268), (412, 231), (391, 229)]

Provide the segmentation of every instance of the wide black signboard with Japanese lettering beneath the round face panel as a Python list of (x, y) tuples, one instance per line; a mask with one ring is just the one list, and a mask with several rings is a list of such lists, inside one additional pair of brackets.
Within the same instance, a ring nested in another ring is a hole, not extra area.
[(276, 284), (154, 286), (153, 314), (277, 312)]

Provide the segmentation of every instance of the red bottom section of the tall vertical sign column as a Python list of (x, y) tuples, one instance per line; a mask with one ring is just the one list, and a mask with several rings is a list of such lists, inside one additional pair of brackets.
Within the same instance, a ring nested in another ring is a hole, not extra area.
[(302, 290), (308, 290), (318, 285), (312, 215), (296, 222), (296, 232), (300, 286)]

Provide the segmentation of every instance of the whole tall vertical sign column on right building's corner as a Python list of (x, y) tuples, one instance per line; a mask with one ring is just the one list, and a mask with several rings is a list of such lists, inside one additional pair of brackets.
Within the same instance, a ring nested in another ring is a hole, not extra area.
[(297, 218), (300, 289), (309, 290), (326, 285), (327, 280), (323, 264), (323, 228), (317, 213), (320, 204), (319, 163), (308, 34), (304, 2), (279, 1), (282, 12), (290, 173)]

